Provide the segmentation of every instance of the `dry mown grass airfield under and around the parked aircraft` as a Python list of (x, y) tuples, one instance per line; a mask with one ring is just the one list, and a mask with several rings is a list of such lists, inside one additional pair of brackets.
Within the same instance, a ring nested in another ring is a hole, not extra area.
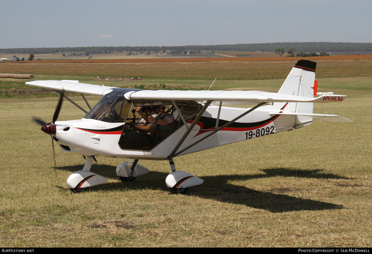
[[(89, 77), (45, 79), (89, 82)], [(85, 160), (56, 147), (54, 169), (51, 139), (31, 121), (33, 115), (51, 121), (57, 98), (27, 95), (1, 99), (1, 244), (371, 247), (372, 78), (318, 81), (318, 91), (348, 97), (341, 103), (314, 104), (314, 113), (340, 114), (354, 123), (316, 120), (298, 130), (176, 157), (177, 170), (205, 180), (190, 188), (187, 195), (170, 194), (165, 184), (170, 173), (167, 161), (140, 160), (150, 172), (123, 184), (115, 173), (123, 159), (101, 157), (91, 170), (109, 181), (93, 186), (90, 192), (71, 193), (66, 179), (81, 170)], [(107, 85), (211, 84), (203, 79), (136, 82)], [(222, 80), (215, 82), (214, 89), (276, 92), (282, 82)], [(87, 99), (93, 105), (99, 97)], [(74, 100), (84, 105), (83, 99)], [(64, 101), (58, 120), (83, 116), (82, 111)]]

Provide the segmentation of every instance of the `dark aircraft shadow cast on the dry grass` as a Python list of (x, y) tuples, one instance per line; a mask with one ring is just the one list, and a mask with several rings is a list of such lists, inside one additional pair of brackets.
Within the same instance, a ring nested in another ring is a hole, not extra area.
[[(81, 170), (83, 165), (57, 167), (58, 170), (67, 170), (75, 172)], [(93, 172), (105, 176), (106, 178), (118, 178), (115, 173), (115, 167), (109, 165), (94, 165)], [(291, 192), (299, 190), (278, 189), (269, 190), (268, 192), (257, 191), (245, 186), (238, 186), (228, 183), (229, 180), (250, 180), (258, 178), (268, 178), (275, 176), (298, 177), (298, 178), (317, 178), (317, 179), (352, 179), (344, 176), (334, 175), (331, 173), (323, 173), (322, 169), (263, 169), (262, 174), (258, 175), (219, 175), (219, 176), (203, 176), (204, 183), (199, 186), (193, 186), (189, 190), (188, 195), (197, 196), (200, 198), (213, 199), (220, 202), (242, 204), (252, 208), (264, 209), (270, 212), (289, 212), (301, 210), (329, 210), (343, 209), (343, 205), (333, 203), (315, 201), (311, 199), (296, 198), (282, 193), (274, 192)], [(168, 173), (150, 171), (146, 175), (139, 176), (133, 182), (126, 182), (124, 185), (121, 182), (104, 183), (96, 185), (91, 190), (118, 190), (118, 189), (161, 189), (168, 190), (164, 179)], [(61, 186), (56, 186), (62, 188)]]

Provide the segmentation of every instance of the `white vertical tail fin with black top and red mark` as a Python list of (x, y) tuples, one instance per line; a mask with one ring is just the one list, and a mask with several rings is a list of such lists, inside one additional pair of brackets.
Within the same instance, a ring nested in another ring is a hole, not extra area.
[[(286, 80), (279, 92), (281, 94), (291, 94), (305, 97), (314, 97), (317, 86), (315, 85), (316, 62), (308, 60), (299, 60), (289, 72)], [(274, 107), (280, 109), (285, 103), (274, 102)], [(300, 113), (312, 113), (313, 104), (305, 102), (290, 102), (285, 110)], [(301, 128), (312, 123), (311, 117), (298, 115), (295, 117), (294, 128)]]

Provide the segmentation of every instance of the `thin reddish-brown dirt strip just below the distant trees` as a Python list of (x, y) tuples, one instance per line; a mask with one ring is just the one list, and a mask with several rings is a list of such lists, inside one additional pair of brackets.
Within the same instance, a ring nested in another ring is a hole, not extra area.
[(372, 59), (371, 55), (334, 55), (334, 56), (310, 56), (310, 57), (234, 57), (234, 58), (163, 58), (163, 59), (99, 59), (99, 60), (41, 60), (25, 62), (6, 62), (12, 63), (150, 63), (150, 62), (221, 62), (221, 61), (298, 61), (305, 60), (354, 60), (354, 59)]

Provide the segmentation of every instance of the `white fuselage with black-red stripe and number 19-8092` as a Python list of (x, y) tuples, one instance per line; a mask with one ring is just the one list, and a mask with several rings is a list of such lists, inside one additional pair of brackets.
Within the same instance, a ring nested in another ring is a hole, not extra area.
[[(285, 106), (286, 104), (283, 104), (283, 107), (279, 110), (272, 105), (259, 107), (179, 155), (291, 130), (294, 125), (293, 115), (272, 114), (273, 112), (284, 111)], [(206, 109), (178, 151), (215, 130), (218, 109), (218, 106), (212, 105)], [(221, 107), (218, 127), (223, 126), (245, 111), (247, 111), (247, 108)], [(192, 120), (187, 123), (190, 125)], [(124, 150), (118, 145), (124, 125), (124, 122), (109, 123), (86, 118), (72, 121), (56, 121), (55, 138), (58, 139), (57, 143), (61, 145), (62, 150), (84, 156), (164, 160), (187, 130), (186, 126), (182, 125), (150, 150)]]

